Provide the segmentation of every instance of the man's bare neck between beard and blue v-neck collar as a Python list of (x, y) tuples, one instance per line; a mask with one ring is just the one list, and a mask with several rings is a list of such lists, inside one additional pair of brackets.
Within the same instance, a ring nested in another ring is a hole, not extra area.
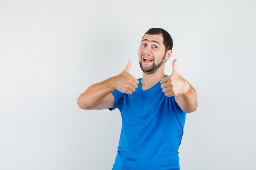
[(145, 91), (157, 84), (165, 76), (164, 67), (160, 67), (155, 73), (148, 74), (142, 72), (141, 88)]

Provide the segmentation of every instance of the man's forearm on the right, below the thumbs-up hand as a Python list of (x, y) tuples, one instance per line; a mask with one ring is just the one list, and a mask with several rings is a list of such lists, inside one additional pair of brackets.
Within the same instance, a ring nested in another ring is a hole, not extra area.
[(197, 92), (189, 82), (187, 82), (186, 86), (188, 86), (187, 92), (176, 96), (175, 99), (184, 112), (191, 113), (198, 108)]

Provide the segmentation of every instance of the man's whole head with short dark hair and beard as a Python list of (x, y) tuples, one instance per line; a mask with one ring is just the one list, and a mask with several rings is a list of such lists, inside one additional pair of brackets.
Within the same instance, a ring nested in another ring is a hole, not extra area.
[[(171, 57), (173, 39), (161, 28), (151, 28), (143, 36), (139, 46), (139, 65), (144, 73), (154, 73)], [(162, 66), (163, 65), (163, 66)]]

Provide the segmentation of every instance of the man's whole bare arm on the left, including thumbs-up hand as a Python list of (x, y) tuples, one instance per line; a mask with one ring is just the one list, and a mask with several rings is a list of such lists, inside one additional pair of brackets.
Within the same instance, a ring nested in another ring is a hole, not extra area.
[(78, 106), (88, 110), (112, 108), (115, 98), (111, 92), (116, 89), (131, 95), (138, 87), (139, 81), (129, 73), (130, 67), (131, 62), (129, 60), (122, 73), (87, 88), (76, 100)]

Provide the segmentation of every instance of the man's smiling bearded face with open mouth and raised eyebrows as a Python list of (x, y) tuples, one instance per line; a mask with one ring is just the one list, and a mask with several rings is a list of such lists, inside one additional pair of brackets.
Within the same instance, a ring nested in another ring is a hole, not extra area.
[(166, 60), (163, 36), (145, 34), (139, 46), (139, 65), (144, 73), (152, 74)]

